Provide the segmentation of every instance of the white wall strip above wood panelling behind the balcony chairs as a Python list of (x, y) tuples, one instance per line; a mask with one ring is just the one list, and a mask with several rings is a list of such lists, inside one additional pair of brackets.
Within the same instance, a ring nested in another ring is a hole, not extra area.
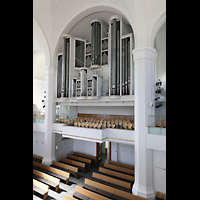
[(110, 115), (134, 115), (133, 106), (79, 106), (78, 113), (88, 113), (88, 114), (110, 114)]

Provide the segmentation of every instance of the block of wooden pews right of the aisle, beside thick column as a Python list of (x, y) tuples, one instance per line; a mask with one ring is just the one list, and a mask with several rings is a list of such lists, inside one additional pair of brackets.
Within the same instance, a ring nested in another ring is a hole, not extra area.
[(76, 186), (73, 197), (65, 196), (65, 200), (144, 200), (131, 193), (134, 183), (134, 166), (108, 161), (93, 172), (92, 178), (85, 178), (82, 187)]

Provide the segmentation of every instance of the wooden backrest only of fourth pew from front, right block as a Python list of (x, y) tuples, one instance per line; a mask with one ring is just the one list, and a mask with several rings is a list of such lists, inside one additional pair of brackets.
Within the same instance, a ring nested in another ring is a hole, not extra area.
[(131, 188), (130, 183), (118, 180), (116, 178), (111, 178), (109, 176), (105, 176), (105, 175), (102, 175), (102, 174), (98, 174), (98, 173), (95, 173), (95, 172), (92, 173), (92, 177), (100, 179), (100, 180), (104, 180), (106, 182), (109, 182), (109, 183), (112, 183), (112, 184), (115, 184), (115, 185), (119, 185), (119, 186), (124, 187), (124, 188), (128, 188), (128, 189)]

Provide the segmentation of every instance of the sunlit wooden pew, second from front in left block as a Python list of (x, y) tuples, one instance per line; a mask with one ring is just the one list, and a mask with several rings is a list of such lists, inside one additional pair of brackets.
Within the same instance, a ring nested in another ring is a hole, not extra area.
[(39, 180), (41, 182), (44, 182), (45, 184), (54, 187), (56, 192), (59, 190), (60, 179), (55, 178), (51, 175), (45, 174), (35, 169), (33, 169), (33, 174), (40, 177), (41, 179)]

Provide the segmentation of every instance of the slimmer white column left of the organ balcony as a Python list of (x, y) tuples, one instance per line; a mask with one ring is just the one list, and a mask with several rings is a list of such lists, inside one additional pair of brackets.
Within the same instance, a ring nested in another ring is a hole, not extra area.
[(53, 130), (53, 83), (54, 83), (54, 68), (45, 68), (46, 78), (46, 107), (45, 107), (45, 132), (44, 132), (44, 159), (43, 163), (50, 165), (52, 160), (55, 160), (55, 134)]

